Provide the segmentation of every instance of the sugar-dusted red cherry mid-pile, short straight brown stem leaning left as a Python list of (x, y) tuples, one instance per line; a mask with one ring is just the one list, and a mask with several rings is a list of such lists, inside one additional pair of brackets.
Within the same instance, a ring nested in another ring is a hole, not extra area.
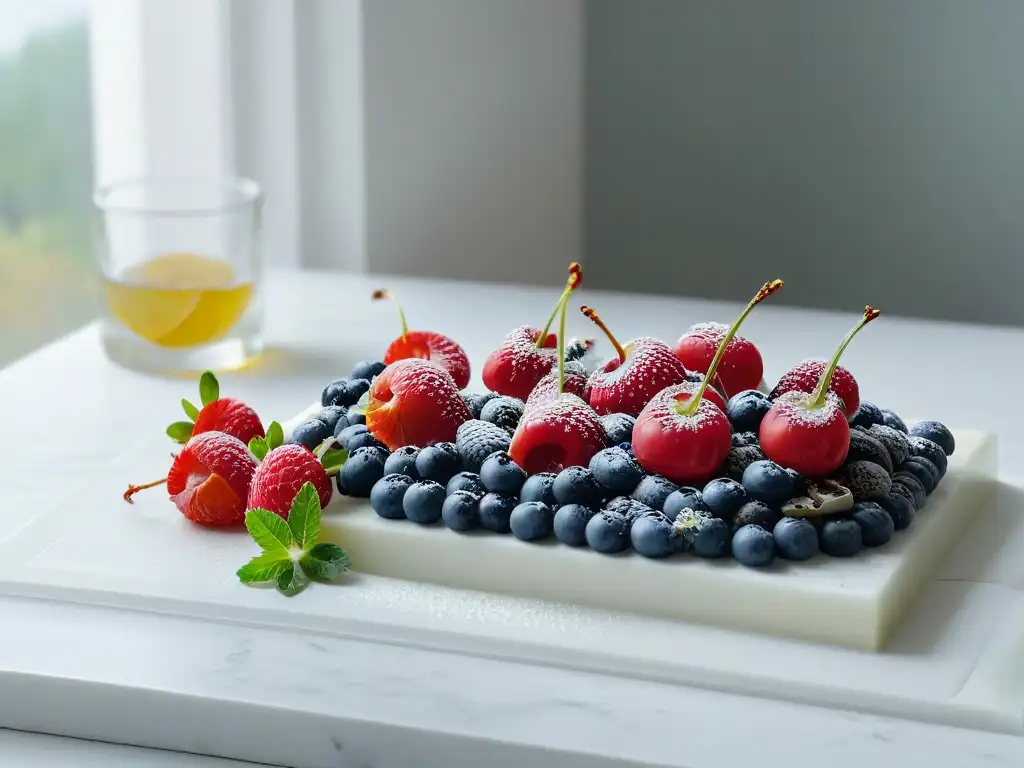
[(638, 416), (655, 394), (686, 381), (686, 369), (664, 341), (643, 337), (623, 346), (596, 311), (580, 311), (604, 331), (617, 354), (590, 375), (590, 406), (599, 415)]

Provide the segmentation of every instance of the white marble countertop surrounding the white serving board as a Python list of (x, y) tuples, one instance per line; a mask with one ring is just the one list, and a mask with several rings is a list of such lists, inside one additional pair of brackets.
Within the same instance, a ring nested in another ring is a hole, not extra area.
[[(752, 292), (771, 276), (753, 275)], [(389, 308), (369, 301), (385, 283), (400, 296), (414, 328), (449, 333), (472, 349), (496, 345), (515, 325), (542, 323), (559, 291), (271, 274), (266, 359), (221, 377), (222, 388), (263, 414), (284, 419), (297, 412), (327, 381), (357, 359), (379, 356), (394, 337)], [(728, 322), (738, 311), (722, 303), (601, 294), (586, 286), (579, 298), (597, 307), (621, 338), (674, 341), (692, 323)], [(766, 304), (743, 335), (762, 350), (770, 381), (804, 357), (827, 356), (861, 308), (825, 313)], [(570, 333), (591, 329), (579, 317)], [(857, 375), (864, 396), (880, 404), (995, 432), (1001, 473), (1009, 477), (1020, 474), (1024, 460), (1018, 437), (1024, 414), (1000, 395), (1024, 377), (1024, 357), (1017, 354), (1022, 342), (1021, 330), (884, 315), (858, 337), (844, 365)], [(474, 355), (473, 362), (478, 382), (482, 359)], [(191, 386), (112, 366), (94, 328), (0, 371), (0, 502), (16, 511), (0, 516), (0, 541), (159, 433), (177, 418), (177, 403)], [(358, 660), (332, 667), (329, 679), (317, 681), (329, 684), (327, 690), (310, 680), (322, 672), (319, 644), (291, 633), (13, 597), (0, 597), (0, 726), (24, 730), (101, 737), (109, 732), (103, 713), (119, 712), (124, 740), (131, 743), (313, 768), (1024, 763), (1024, 739), (1016, 736), (725, 691), (356, 640), (333, 641), (339, 656)], [(74, 653), (63, 652), (61, 643)], [(283, 658), (296, 671), (294, 682), (268, 692), (264, 671)], [(45, 701), (34, 699), (39, 678), (50, 682)], [(118, 711), (126, 687), (154, 691), (152, 700)], [(217, 720), (210, 705), (225, 699), (238, 703), (234, 714)], [(329, 724), (322, 714), (328, 711)], [(247, 728), (280, 730), (272, 754), (247, 750)], [(8, 748), (31, 754), (32, 739), (3, 733), (0, 757)], [(45, 751), (43, 744), (77, 742), (38, 743)], [(290, 757), (300, 753), (300, 762)], [(146, 765), (142, 758), (131, 764)]]

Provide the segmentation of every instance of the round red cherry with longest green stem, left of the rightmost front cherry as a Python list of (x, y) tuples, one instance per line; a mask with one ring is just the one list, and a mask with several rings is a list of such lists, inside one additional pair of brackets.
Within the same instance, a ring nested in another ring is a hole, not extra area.
[(668, 387), (640, 413), (633, 428), (633, 452), (645, 470), (689, 485), (710, 479), (725, 461), (732, 429), (724, 403), (719, 407), (705, 395), (736, 330), (754, 307), (781, 287), (780, 280), (765, 283), (751, 299), (719, 342), (703, 381)]

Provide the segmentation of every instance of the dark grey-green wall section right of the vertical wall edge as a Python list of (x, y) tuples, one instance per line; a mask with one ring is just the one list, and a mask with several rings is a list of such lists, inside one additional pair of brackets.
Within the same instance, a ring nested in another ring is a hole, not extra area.
[(1024, 2), (591, 0), (592, 286), (1024, 325)]

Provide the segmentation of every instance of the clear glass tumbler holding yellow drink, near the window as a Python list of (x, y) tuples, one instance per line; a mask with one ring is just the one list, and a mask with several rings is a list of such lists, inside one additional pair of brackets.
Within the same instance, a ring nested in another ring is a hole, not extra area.
[(126, 368), (178, 375), (243, 368), (263, 348), (259, 186), (143, 178), (98, 189), (102, 341)]

